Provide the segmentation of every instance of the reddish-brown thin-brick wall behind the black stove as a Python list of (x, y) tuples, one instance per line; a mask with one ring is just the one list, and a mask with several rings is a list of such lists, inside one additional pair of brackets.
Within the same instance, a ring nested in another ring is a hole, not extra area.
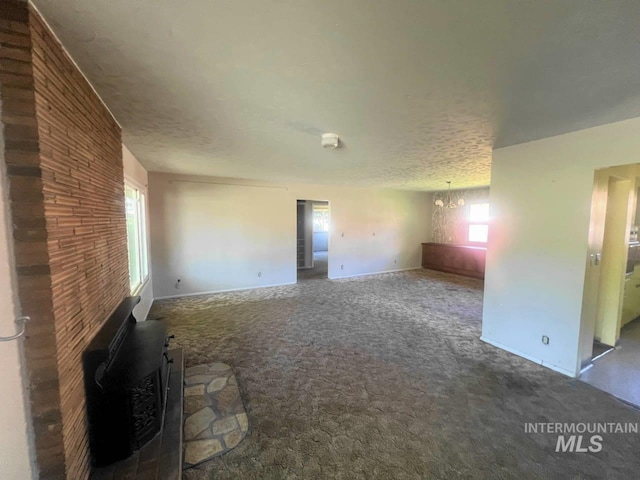
[(120, 129), (19, 0), (0, 0), (0, 97), (40, 478), (82, 479), (81, 354), (129, 293)]

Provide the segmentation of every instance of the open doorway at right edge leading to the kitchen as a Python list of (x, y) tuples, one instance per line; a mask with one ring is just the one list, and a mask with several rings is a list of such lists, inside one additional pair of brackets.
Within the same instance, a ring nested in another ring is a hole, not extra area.
[(640, 165), (595, 174), (580, 380), (640, 407)]

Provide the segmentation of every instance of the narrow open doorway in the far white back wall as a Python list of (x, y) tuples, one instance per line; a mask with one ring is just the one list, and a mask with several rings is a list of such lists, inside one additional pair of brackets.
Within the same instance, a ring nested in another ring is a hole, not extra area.
[(328, 278), (329, 202), (297, 200), (298, 281)]

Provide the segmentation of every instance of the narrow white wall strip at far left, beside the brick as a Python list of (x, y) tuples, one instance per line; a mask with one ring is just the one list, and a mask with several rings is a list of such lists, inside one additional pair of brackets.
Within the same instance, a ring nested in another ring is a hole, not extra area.
[[(0, 155), (3, 155), (1, 133)], [(19, 311), (14, 294), (15, 270), (4, 168), (4, 158), (0, 158), (0, 336), (6, 337), (16, 333), (15, 318)], [(20, 339), (0, 342), (0, 478), (7, 480), (35, 478), (20, 342)]]

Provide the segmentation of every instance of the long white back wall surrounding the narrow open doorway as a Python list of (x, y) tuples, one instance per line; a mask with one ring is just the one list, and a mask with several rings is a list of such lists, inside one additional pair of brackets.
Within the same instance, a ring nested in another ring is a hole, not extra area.
[(157, 298), (295, 283), (297, 199), (330, 202), (329, 278), (418, 268), (430, 236), (424, 193), (159, 173), (149, 184)]

